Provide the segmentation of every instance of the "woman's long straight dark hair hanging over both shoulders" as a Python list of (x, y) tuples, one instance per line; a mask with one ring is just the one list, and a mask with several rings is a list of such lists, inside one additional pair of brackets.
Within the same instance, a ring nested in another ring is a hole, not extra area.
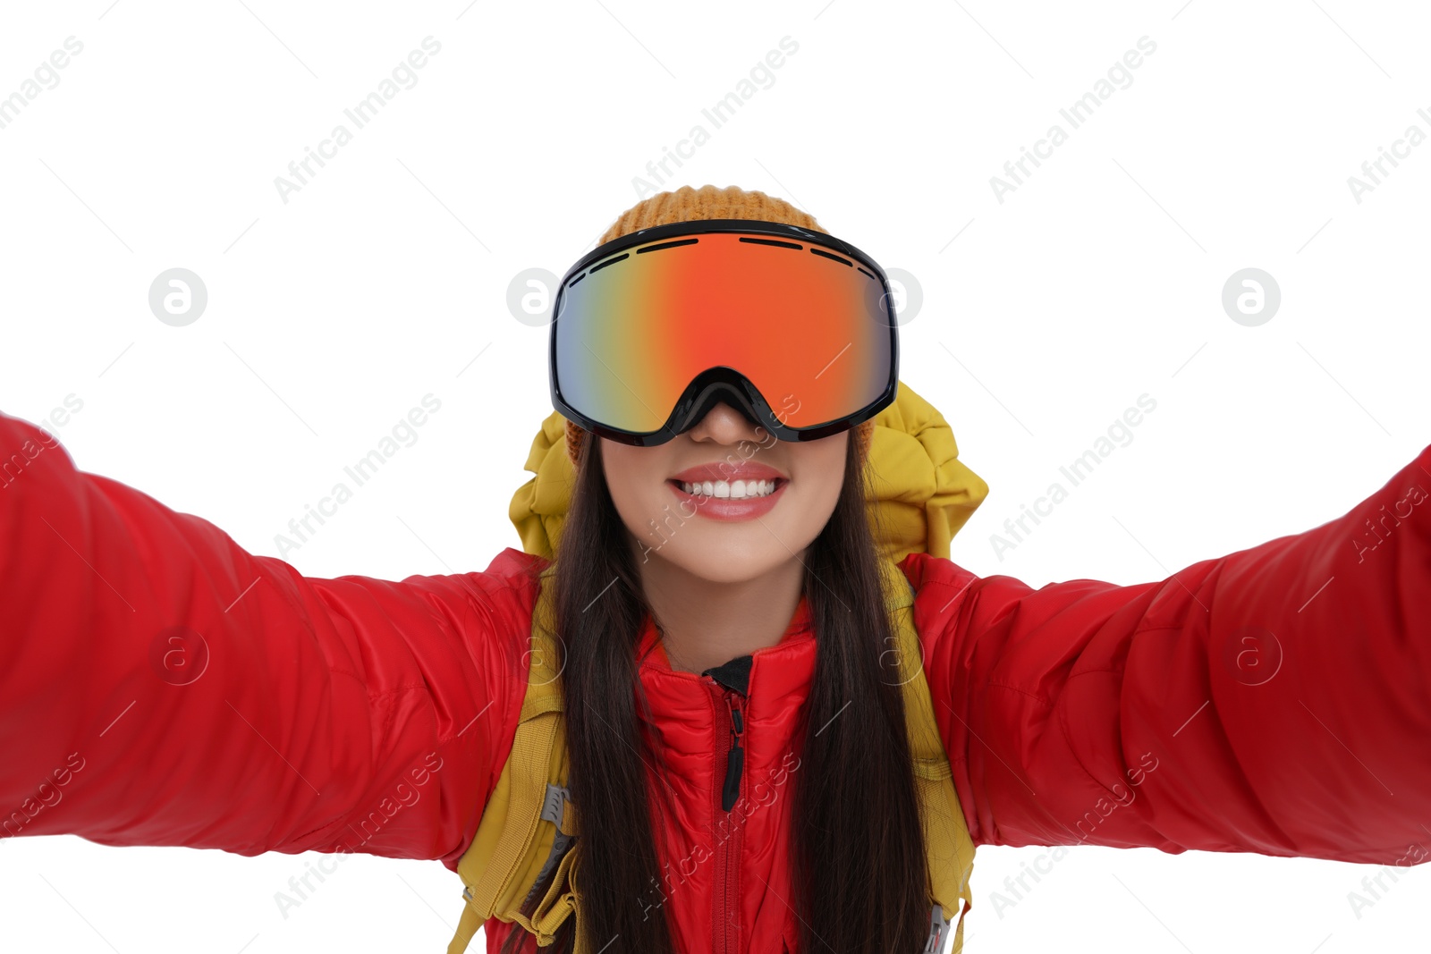
[[(600, 441), (582, 442), (581, 466), (557, 549), (557, 628), (564, 652), (568, 787), (578, 807), (581, 924), (568, 918), (550, 951), (570, 951), (577, 928), (588, 950), (674, 951), (658, 905), (663, 884), (637, 707), (635, 639), (647, 612), (635, 556), (607, 489)], [(923, 950), (929, 881), (919, 802), (904, 731), (904, 702), (870, 521), (864, 466), (850, 433), (844, 483), (804, 558), (804, 594), (816, 635), (814, 684), (794, 780), (790, 845), (800, 943), (819, 950)], [(648, 718), (648, 715), (647, 715)], [(660, 784), (660, 778), (657, 780)], [(535, 898), (545, 894), (538, 885)], [(514, 930), (502, 954), (529, 943)], [(537, 948), (531, 948), (537, 950)]]

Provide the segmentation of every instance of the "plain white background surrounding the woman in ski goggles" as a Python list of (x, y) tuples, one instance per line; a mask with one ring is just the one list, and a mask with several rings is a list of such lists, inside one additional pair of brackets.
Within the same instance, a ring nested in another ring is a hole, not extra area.
[[(110, 3), (6, 4), (0, 96), (84, 47), (0, 129), (0, 409), (39, 422), (76, 395), (57, 435), (82, 469), (273, 555), (439, 398), (286, 555), (312, 576), (477, 571), (518, 545), (507, 506), (551, 406), (545, 329), (508, 283), (560, 275), (695, 123), (710, 142), (651, 185), (788, 199), (917, 279), (900, 376), (992, 488), (954, 541), (975, 572), (1162, 579), (1339, 516), (1431, 439), (1431, 144), (1359, 203), (1347, 182), (1431, 133), (1418, 4)], [(275, 176), (426, 36), (416, 86), (285, 203)], [(713, 130), (701, 107), (784, 36), (798, 51)], [(1070, 130), (1059, 109), (1143, 36), (1132, 84)], [(990, 176), (1052, 123), (1069, 140), (1000, 203)], [(185, 328), (147, 305), (170, 267), (209, 293)], [(1221, 305), (1244, 267), (1282, 292), (1256, 328)], [(990, 535), (1142, 393), (1133, 441), (1000, 561)], [(1424, 868), (1358, 918), (1375, 867), (1261, 855), (1079, 848), (996, 914), (1045, 851), (979, 851), (972, 954), (1424, 943)], [(441, 864), (352, 858), (283, 918), (303, 862), (6, 840), (0, 948), (444, 950), (461, 884)]]

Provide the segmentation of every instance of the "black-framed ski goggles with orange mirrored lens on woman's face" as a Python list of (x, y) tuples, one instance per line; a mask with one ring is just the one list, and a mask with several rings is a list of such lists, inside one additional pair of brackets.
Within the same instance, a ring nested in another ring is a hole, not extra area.
[(641, 229), (562, 277), (552, 405), (641, 446), (718, 402), (781, 441), (826, 438), (894, 400), (894, 302), (873, 259), (821, 232), (748, 219)]

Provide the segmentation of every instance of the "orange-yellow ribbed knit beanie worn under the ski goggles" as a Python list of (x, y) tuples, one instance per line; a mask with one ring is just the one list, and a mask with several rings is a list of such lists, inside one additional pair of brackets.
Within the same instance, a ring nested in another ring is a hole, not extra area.
[[(698, 219), (758, 219), (761, 222), (781, 222), (784, 225), (800, 226), (813, 232), (824, 232), (814, 216), (800, 212), (784, 199), (774, 199), (763, 192), (746, 192), (737, 186), (701, 186), (691, 189), (681, 186), (675, 192), (663, 192), (648, 199), (643, 199), (611, 223), (611, 227), (597, 239), (597, 245), (604, 245), (624, 235), (631, 235), (640, 229), (650, 229), (673, 222), (695, 222)], [(866, 421), (854, 428), (854, 438), (859, 441), (861, 458), (869, 452), (870, 436), (874, 433), (874, 421)], [(587, 439), (587, 431), (574, 421), (567, 421), (567, 455), (575, 468), (581, 461), (581, 445)]]

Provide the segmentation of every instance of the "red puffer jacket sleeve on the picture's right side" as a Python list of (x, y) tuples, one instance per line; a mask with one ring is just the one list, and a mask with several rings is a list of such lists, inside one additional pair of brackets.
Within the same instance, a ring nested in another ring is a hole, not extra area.
[(1428, 491), (1431, 448), (1338, 519), (1135, 586), (922, 558), (975, 842), (1427, 860)]

